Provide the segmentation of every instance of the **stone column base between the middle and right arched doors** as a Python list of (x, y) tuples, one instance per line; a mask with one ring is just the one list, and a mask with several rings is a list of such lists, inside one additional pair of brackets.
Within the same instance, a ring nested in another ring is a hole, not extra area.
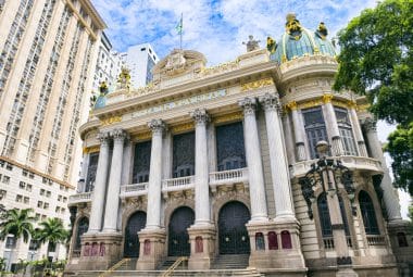
[(215, 226), (196, 226), (188, 228), (190, 240), (190, 270), (210, 269), (215, 253)]

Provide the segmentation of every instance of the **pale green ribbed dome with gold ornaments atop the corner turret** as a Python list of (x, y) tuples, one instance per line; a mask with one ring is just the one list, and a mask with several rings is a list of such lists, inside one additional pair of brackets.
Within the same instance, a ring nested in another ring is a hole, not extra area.
[(334, 47), (327, 40), (327, 28), (324, 23), (320, 23), (315, 32), (311, 32), (301, 26), (295, 14), (287, 15), (286, 32), (279, 39), (279, 45), (272, 60), (284, 63), (299, 56), (324, 54), (336, 55)]

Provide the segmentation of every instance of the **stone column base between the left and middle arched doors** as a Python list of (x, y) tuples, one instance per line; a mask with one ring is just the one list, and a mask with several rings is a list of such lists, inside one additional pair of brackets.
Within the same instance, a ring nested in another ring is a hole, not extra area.
[(138, 234), (140, 251), (136, 269), (154, 270), (165, 257), (165, 229), (143, 229)]

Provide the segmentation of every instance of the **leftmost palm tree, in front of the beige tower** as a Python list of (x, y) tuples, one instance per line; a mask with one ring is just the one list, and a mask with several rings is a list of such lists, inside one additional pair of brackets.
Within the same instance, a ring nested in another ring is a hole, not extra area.
[[(36, 221), (32, 213), (32, 209), (12, 209), (3, 212), (0, 222), (0, 240), (13, 235), (17, 243), (21, 238), (27, 243), (33, 235), (33, 223)], [(12, 249), (11, 260), (13, 260), (14, 250), (15, 247)]]

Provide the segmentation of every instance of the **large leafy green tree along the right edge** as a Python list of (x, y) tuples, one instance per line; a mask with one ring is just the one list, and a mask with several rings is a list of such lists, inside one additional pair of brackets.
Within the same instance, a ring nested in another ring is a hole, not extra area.
[(398, 124), (387, 151), (395, 185), (413, 194), (413, 1), (386, 0), (364, 10), (339, 32), (334, 89), (366, 96), (370, 111)]

